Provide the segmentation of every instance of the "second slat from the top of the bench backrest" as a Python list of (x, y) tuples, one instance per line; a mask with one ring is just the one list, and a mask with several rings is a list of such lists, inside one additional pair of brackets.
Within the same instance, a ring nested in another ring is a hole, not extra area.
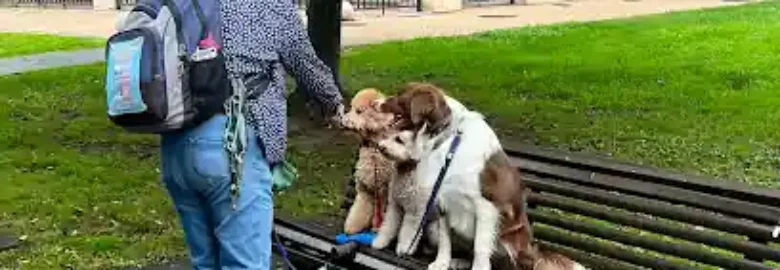
[(526, 159), (512, 159), (512, 161), (521, 171), (532, 172), (541, 176), (560, 177), (563, 180), (571, 180), (577, 184), (598, 186), (653, 199), (695, 206), (713, 212), (749, 218), (766, 225), (775, 225), (778, 219), (780, 219), (780, 208), (538, 161)]

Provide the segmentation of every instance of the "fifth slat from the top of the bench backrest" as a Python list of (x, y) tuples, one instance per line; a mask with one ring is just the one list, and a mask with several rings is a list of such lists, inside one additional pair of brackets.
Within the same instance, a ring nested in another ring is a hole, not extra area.
[(680, 258), (691, 259), (693, 261), (714, 266), (742, 270), (772, 270), (772, 268), (769, 266), (761, 263), (714, 254), (692, 244), (658, 241), (650, 239), (649, 237), (638, 236), (603, 226), (572, 220), (564, 216), (542, 213), (540, 211), (532, 210), (529, 211), (528, 215), (534, 220), (534, 222), (540, 222), (563, 229), (582, 232), (602, 239), (609, 239), (610, 241), (620, 242), (635, 247), (641, 247), (669, 255), (674, 255)]

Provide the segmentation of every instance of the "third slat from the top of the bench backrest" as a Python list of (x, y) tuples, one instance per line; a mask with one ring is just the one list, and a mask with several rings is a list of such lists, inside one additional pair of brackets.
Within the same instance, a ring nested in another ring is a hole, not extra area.
[(773, 239), (773, 228), (746, 220), (727, 218), (709, 212), (675, 207), (668, 203), (645, 199), (633, 195), (616, 194), (592, 187), (575, 185), (559, 180), (539, 178), (521, 173), (526, 183), (536, 191), (548, 191), (567, 197), (605, 204), (630, 211), (700, 225), (720, 231), (745, 235), (754, 240), (778, 241)]

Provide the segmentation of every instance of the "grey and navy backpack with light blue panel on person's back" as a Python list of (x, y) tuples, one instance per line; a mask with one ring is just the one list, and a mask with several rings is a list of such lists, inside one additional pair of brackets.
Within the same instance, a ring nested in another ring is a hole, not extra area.
[(223, 112), (232, 87), (220, 26), (217, 0), (139, 0), (107, 41), (108, 118), (164, 134)]

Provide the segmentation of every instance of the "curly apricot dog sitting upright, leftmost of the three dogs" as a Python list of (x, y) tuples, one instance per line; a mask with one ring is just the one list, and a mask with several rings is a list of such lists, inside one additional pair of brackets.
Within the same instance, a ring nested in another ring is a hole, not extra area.
[(387, 185), (396, 177), (395, 162), (382, 155), (375, 145), (393, 123), (392, 114), (379, 110), (383, 101), (384, 95), (378, 90), (361, 90), (352, 98), (351, 108), (341, 123), (362, 140), (354, 173), (357, 195), (344, 222), (347, 234), (379, 229), (387, 201)]

